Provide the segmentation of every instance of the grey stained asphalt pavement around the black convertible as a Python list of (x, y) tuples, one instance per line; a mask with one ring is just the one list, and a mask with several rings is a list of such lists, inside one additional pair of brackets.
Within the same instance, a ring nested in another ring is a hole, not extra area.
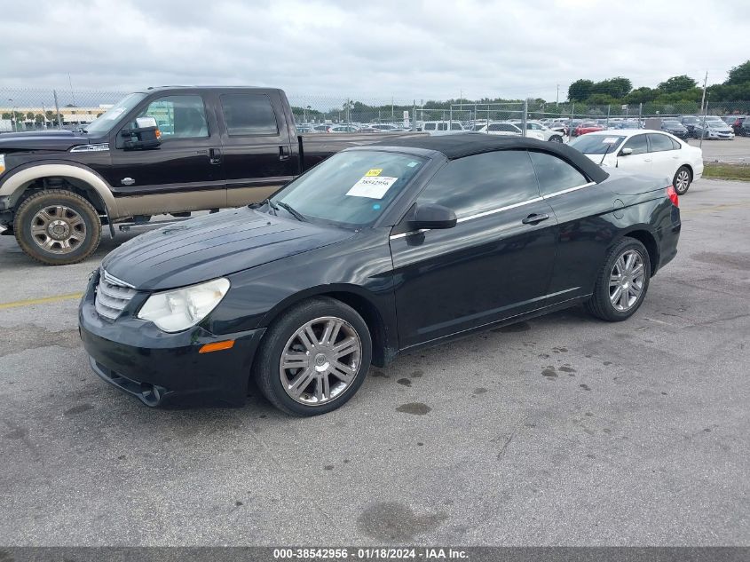
[(575, 308), (402, 356), (308, 419), (256, 391), (145, 408), (76, 331), (124, 238), (51, 268), (0, 237), (0, 545), (748, 545), (750, 183), (681, 208), (631, 320)]

